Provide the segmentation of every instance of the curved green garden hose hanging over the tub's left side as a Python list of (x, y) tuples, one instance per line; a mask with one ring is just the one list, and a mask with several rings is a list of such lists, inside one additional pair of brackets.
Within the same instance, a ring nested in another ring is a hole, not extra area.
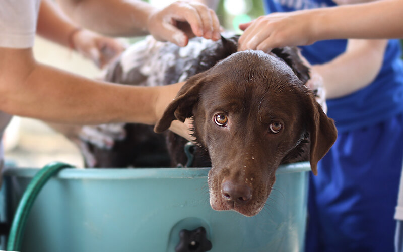
[(16, 213), (14, 215), (13, 224), (10, 228), (9, 240), (7, 243), (7, 251), (20, 251), (25, 224), (27, 223), (29, 212), (35, 202), (36, 197), (47, 180), (49, 180), (49, 178), (56, 172), (64, 168), (73, 168), (73, 166), (65, 163), (53, 162), (43, 167), (32, 178), (23, 196), (21, 197), (20, 203), (18, 204)]

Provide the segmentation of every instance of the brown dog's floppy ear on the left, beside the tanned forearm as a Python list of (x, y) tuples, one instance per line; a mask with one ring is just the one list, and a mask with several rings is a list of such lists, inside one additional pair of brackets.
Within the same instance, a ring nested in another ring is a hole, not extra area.
[(193, 115), (193, 106), (198, 100), (198, 94), (204, 83), (205, 72), (189, 78), (179, 90), (175, 99), (165, 109), (161, 119), (154, 127), (156, 133), (167, 130), (173, 120), (185, 121)]

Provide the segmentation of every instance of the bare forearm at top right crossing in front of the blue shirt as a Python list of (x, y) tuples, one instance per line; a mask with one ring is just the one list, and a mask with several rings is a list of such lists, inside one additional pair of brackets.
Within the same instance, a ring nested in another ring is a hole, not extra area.
[[(403, 1), (382, 0), (312, 11), (314, 40), (403, 38)], [(316, 14), (316, 15), (315, 15)], [(302, 17), (301, 17), (302, 18)]]

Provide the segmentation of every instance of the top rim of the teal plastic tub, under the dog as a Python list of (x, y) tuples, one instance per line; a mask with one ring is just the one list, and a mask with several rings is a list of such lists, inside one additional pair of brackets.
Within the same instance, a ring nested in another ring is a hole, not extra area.
[[(4, 176), (31, 178), (41, 168), (6, 166)], [(305, 172), (310, 170), (309, 162), (298, 162), (279, 166), (278, 174)], [(63, 169), (55, 177), (58, 179), (145, 179), (145, 178), (207, 178), (210, 167), (206, 168), (73, 168)]]

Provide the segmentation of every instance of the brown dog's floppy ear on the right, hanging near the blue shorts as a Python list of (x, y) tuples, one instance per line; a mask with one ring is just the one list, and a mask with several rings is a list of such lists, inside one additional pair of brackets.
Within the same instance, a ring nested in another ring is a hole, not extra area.
[(309, 162), (313, 174), (317, 175), (317, 163), (336, 141), (337, 129), (334, 121), (327, 117), (315, 98), (311, 95), (309, 98), (309, 104), (304, 104), (308, 109), (305, 118), (311, 144)]

